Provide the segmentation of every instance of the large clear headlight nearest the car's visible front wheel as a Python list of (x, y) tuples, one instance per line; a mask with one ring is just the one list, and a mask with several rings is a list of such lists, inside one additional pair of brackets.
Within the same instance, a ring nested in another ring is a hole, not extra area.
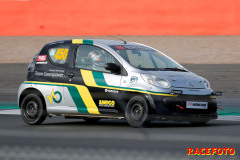
[(141, 74), (141, 77), (144, 81), (147, 83), (156, 85), (161, 88), (170, 88), (171, 84), (168, 82), (168, 80), (155, 76), (155, 75), (150, 75), (150, 74)]

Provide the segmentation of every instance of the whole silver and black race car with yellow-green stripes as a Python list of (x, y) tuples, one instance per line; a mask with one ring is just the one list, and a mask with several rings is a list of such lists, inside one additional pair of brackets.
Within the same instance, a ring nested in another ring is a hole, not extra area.
[(30, 125), (47, 116), (125, 119), (133, 127), (154, 120), (206, 124), (218, 117), (217, 94), (205, 78), (147, 45), (71, 39), (35, 55), (18, 104)]

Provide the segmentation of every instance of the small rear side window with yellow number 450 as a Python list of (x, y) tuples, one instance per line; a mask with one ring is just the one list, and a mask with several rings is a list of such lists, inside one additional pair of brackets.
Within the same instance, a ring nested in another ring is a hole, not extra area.
[(49, 57), (54, 63), (64, 64), (67, 60), (69, 51), (68, 45), (60, 45), (48, 50)]

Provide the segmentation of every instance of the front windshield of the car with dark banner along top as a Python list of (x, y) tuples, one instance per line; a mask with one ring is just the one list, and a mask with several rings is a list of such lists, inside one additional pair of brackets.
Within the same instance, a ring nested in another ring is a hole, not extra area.
[(111, 45), (132, 66), (142, 70), (185, 71), (178, 63), (152, 48), (141, 45)]

